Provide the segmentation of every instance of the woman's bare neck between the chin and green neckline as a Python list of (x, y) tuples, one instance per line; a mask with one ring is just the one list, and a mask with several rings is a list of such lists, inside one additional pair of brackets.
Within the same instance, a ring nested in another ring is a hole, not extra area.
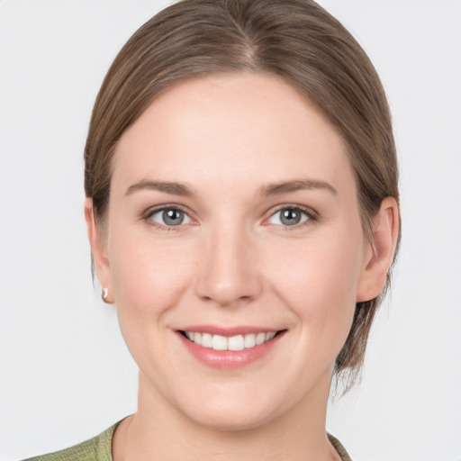
[(339, 456), (326, 436), (330, 376), (290, 411), (246, 429), (197, 424), (161, 398), (140, 373), (139, 410), (113, 438), (114, 461), (331, 461)]

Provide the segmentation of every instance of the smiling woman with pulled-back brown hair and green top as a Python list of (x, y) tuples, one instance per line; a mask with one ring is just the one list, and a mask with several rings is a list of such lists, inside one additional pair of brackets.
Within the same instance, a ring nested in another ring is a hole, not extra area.
[(400, 239), (375, 69), (310, 0), (185, 0), (113, 62), (85, 150), (139, 408), (37, 459), (350, 459), (326, 434)]

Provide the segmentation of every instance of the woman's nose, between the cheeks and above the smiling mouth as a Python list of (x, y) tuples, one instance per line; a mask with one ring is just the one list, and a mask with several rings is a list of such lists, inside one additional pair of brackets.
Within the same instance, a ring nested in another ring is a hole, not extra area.
[(196, 294), (221, 307), (238, 307), (258, 298), (263, 284), (250, 236), (243, 230), (220, 228), (205, 240)]

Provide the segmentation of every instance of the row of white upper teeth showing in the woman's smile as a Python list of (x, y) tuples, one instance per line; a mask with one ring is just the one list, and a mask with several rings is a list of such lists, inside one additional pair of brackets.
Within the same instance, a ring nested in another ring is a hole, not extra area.
[(244, 348), (254, 348), (264, 342), (270, 341), (276, 336), (276, 331), (236, 335), (229, 338), (221, 335), (212, 335), (210, 333), (185, 331), (185, 336), (203, 348), (213, 348), (214, 350), (242, 350)]

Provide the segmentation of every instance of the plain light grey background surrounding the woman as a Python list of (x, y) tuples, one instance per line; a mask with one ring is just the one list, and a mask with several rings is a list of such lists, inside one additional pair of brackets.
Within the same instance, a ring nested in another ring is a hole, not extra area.
[[(137, 371), (90, 275), (82, 152), (116, 52), (166, 1), (0, 2), (0, 459), (136, 409)], [(330, 408), (355, 461), (460, 461), (461, 1), (323, 0), (393, 110), (403, 240), (363, 383)]]

